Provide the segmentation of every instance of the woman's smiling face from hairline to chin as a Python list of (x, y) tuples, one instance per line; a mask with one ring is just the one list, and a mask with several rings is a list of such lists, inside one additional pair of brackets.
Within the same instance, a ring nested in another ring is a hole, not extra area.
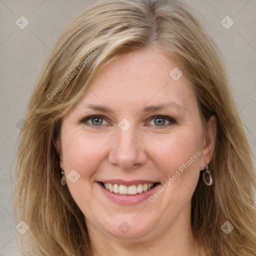
[(136, 50), (108, 63), (63, 118), (57, 140), (88, 229), (140, 241), (187, 230), (210, 134), (203, 136), (191, 82), (166, 55)]

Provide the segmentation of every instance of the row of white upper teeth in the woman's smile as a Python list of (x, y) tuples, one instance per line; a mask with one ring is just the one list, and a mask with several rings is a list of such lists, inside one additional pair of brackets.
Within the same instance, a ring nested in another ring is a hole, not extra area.
[(109, 190), (110, 192), (119, 193), (119, 194), (137, 194), (142, 193), (147, 190), (149, 190), (151, 187), (153, 187), (153, 183), (149, 184), (137, 184), (137, 185), (118, 185), (118, 184), (112, 184), (112, 183), (103, 183), (103, 186), (105, 189)]

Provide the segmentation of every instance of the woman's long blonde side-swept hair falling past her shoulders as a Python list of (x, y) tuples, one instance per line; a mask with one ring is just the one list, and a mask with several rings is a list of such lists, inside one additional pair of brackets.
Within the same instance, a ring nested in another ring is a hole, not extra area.
[[(207, 255), (256, 255), (256, 177), (225, 69), (216, 46), (177, 0), (95, 0), (58, 38), (33, 89), (15, 159), (14, 213), (29, 229), (17, 233), (23, 255), (91, 255), (84, 215), (60, 184), (55, 139), (61, 118), (103, 66), (133, 49), (156, 46), (193, 82), (204, 124), (217, 119), (210, 162), (192, 196), (191, 226)], [(226, 234), (221, 226), (234, 229)]]

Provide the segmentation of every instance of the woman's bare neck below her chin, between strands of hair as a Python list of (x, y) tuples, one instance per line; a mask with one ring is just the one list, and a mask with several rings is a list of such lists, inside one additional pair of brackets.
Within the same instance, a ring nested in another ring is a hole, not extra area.
[(128, 239), (110, 235), (102, 232), (86, 219), (87, 230), (91, 243), (92, 255), (162, 255), (162, 256), (204, 256), (204, 251), (191, 233), (190, 214), (183, 211), (180, 216), (171, 222), (166, 223), (164, 230), (151, 231), (145, 236), (136, 237), (133, 235)]

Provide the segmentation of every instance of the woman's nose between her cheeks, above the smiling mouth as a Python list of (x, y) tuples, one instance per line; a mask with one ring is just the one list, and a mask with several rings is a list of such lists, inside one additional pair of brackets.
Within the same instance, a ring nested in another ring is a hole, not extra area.
[(135, 132), (133, 126), (126, 131), (118, 128), (108, 156), (111, 164), (132, 170), (146, 162), (146, 146)]

